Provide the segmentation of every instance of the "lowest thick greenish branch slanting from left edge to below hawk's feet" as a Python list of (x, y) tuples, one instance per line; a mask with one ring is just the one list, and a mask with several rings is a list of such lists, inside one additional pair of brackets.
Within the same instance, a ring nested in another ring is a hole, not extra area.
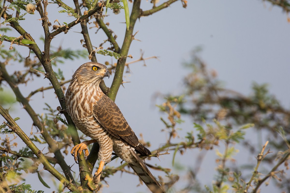
[(0, 105), (0, 114), (5, 118), (9, 124), (9, 128), (15, 132), (22, 141), (31, 149), (31, 151), (38, 157), (39, 161), (44, 165), (44, 169), (50, 172), (61, 183), (63, 183), (70, 191), (78, 191), (77, 187), (66, 179), (61, 173), (59, 173), (53, 166), (50, 165), (43, 153), (35, 146), (35, 144), (29, 139), (29, 137), (21, 130), (16, 122), (9, 115), (8, 110), (3, 109)]

